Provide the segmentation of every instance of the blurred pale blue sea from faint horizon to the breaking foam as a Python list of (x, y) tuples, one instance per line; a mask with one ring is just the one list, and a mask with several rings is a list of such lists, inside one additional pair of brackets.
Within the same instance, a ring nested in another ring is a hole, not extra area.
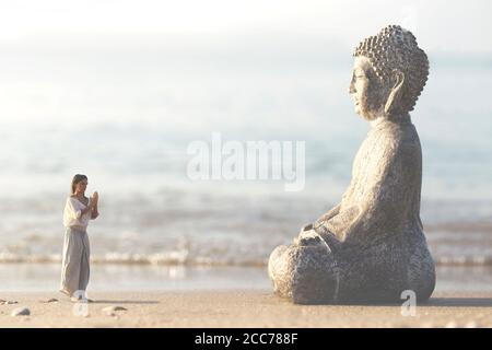
[[(0, 269), (60, 260), (75, 173), (101, 195), (101, 218), (89, 228), (94, 262), (265, 267), (277, 245), (339, 201), (368, 131), (347, 93), (350, 50), (305, 48), (247, 58), (237, 45), (210, 55), (0, 55)], [(430, 59), (412, 113), (423, 149), (421, 215), (436, 262), (465, 276), (464, 266), (492, 266), (492, 56)], [(305, 141), (305, 187), (191, 180), (187, 147), (210, 143), (212, 132)]]

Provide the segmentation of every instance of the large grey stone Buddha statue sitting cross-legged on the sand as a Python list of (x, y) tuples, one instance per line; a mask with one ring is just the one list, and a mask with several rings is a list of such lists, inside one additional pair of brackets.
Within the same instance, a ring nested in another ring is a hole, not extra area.
[(415, 37), (383, 28), (354, 50), (349, 92), (371, 124), (339, 205), (270, 255), (276, 293), (296, 304), (427, 300), (435, 268), (420, 220), (422, 151), (410, 112), (429, 75)]

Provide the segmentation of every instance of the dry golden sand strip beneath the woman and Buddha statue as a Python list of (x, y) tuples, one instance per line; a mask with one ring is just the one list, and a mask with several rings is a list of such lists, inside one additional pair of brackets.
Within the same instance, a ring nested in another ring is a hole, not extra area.
[[(83, 317), (61, 294), (2, 293), (0, 300), (16, 303), (0, 303), (0, 327), (492, 327), (492, 293), (435, 294), (407, 317), (399, 305), (293, 305), (269, 291), (94, 292), (90, 298), (94, 303)], [(31, 314), (11, 316), (19, 307)]]

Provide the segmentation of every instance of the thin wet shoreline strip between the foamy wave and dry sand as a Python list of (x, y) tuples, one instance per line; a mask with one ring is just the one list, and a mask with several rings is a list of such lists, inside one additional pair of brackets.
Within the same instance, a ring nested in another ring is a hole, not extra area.
[[(488, 266), (437, 266), (435, 293), (492, 292), (492, 268)], [(52, 292), (60, 283), (59, 264), (1, 264), (0, 292)], [(150, 291), (271, 292), (267, 269), (243, 266), (93, 265), (89, 293)]]

